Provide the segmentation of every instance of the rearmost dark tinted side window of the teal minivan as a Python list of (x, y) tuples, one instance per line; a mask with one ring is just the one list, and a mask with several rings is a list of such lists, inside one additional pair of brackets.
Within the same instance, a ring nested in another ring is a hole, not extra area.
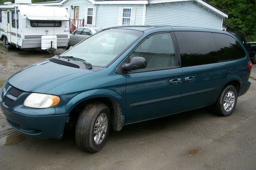
[(236, 39), (226, 34), (212, 33), (220, 61), (244, 58), (245, 53)]

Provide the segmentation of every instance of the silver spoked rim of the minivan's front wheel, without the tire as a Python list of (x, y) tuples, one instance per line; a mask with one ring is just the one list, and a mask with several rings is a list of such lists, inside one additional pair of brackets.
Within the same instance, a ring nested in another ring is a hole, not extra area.
[(94, 126), (94, 142), (96, 144), (100, 144), (106, 135), (106, 131), (108, 130), (108, 117), (105, 113), (101, 113), (95, 123)]

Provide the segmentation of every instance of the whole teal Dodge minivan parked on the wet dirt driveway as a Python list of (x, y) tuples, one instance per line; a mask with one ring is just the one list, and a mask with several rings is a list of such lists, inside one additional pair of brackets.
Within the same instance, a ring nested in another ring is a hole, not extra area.
[(218, 30), (128, 26), (102, 30), (65, 53), (28, 66), (0, 91), (7, 122), (34, 137), (97, 152), (110, 128), (213, 105), (230, 115), (250, 87), (242, 42)]

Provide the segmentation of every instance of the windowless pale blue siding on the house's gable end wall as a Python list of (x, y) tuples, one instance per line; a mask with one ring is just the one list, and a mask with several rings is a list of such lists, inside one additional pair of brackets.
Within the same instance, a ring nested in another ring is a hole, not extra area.
[(156, 24), (221, 30), (222, 17), (193, 1), (147, 5), (145, 25)]

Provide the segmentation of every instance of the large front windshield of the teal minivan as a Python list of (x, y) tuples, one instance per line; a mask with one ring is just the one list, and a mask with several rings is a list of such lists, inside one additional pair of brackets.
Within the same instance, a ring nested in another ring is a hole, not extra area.
[(93, 66), (104, 67), (129, 47), (143, 32), (126, 29), (101, 31), (75, 45), (61, 56), (86, 60)]

